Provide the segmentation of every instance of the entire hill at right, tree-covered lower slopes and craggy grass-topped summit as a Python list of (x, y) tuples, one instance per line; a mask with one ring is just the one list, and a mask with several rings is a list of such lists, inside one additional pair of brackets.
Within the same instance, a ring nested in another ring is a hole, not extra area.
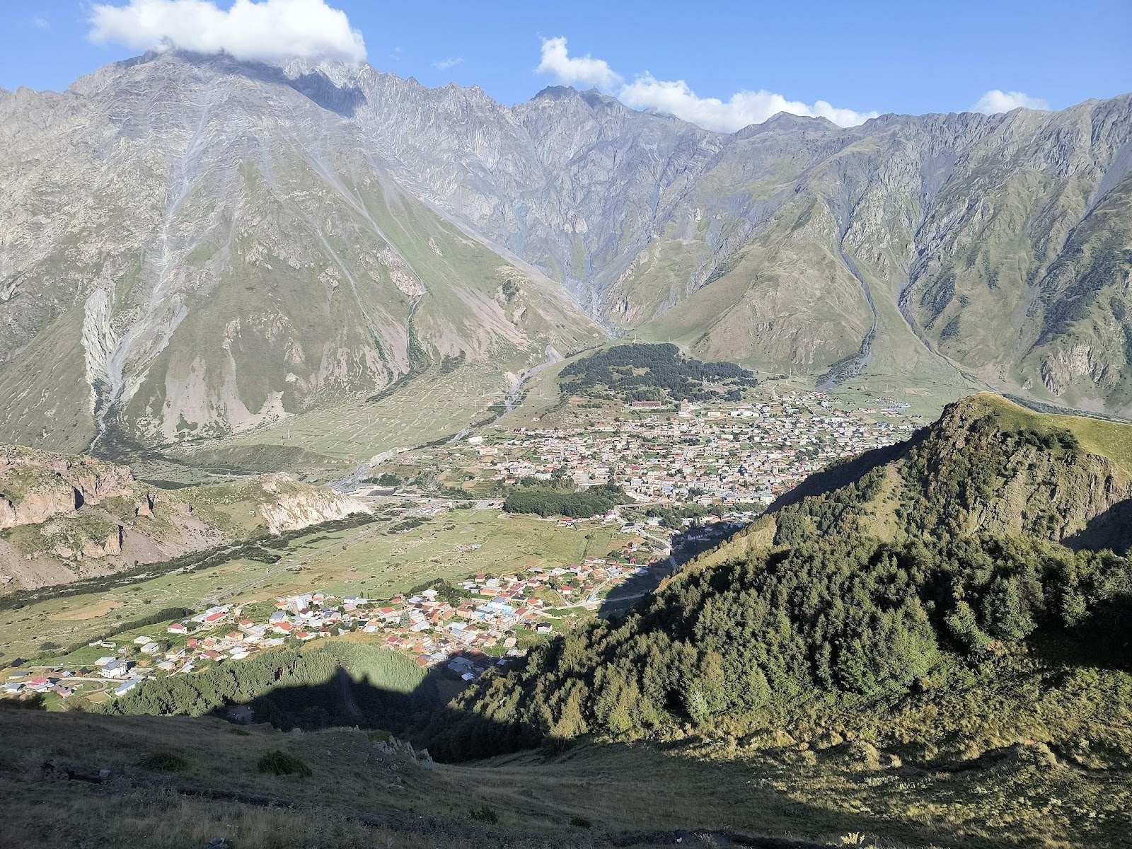
[(486, 677), (430, 749), (835, 732), (927, 760), (1038, 739), (1126, 769), (1132, 566), (1084, 543), (1104, 526), (1126, 547), (1132, 529), (1105, 518), (1127, 473), (1082, 448), (1091, 435), (987, 396), (952, 405), (818, 475), (624, 620)]

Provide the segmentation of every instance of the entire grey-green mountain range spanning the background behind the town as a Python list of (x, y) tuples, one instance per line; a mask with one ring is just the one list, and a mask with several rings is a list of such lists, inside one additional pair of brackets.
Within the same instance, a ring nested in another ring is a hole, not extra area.
[(724, 135), (598, 92), (147, 54), (0, 92), (0, 429), (113, 454), (424, 374), (501, 396), (624, 334), (1127, 413), (1130, 169), (1132, 95)]

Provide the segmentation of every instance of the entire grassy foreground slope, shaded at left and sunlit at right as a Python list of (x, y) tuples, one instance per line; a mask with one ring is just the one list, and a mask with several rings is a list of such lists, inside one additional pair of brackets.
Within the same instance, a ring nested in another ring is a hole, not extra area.
[[(1126, 777), (1060, 766), (1040, 746), (1012, 747), (986, 767), (954, 772), (881, 766), (861, 756), (867, 747), (849, 744), (760, 748), (767, 744), (726, 739), (581, 745), (549, 760), (524, 753), (426, 770), (383, 754), (353, 729), (294, 735), (263, 726), (235, 731), (208, 718), (0, 711), (0, 735), (9, 744), (0, 758), (0, 846), (28, 849), (203, 849), (214, 837), (233, 849), (554, 849), (612, 839), (648, 847), (671, 844), (677, 834), (696, 846), (696, 833), (724, 831), (818, 844), (858, 833), (883, 847), (1053, 840), (1091, 849), (1127, 846), (1132, 833), (1122, 801)], [(258, 772), (258, 760), (276, 749), (308, 763), (314, 775)], [(188, 767), (139, 765), (161, 753)], [(113, 778), (103, 786), (50, 780), (40, 769), (48, 760), (80, 771), (108, 767)], [(276, 807), (187, 798), (177, 792), (182, 787), (261, 795)], [(470, 817), (484, 807), (498, 824)], [(577, 825), (583, 821), (592, 827)]]

